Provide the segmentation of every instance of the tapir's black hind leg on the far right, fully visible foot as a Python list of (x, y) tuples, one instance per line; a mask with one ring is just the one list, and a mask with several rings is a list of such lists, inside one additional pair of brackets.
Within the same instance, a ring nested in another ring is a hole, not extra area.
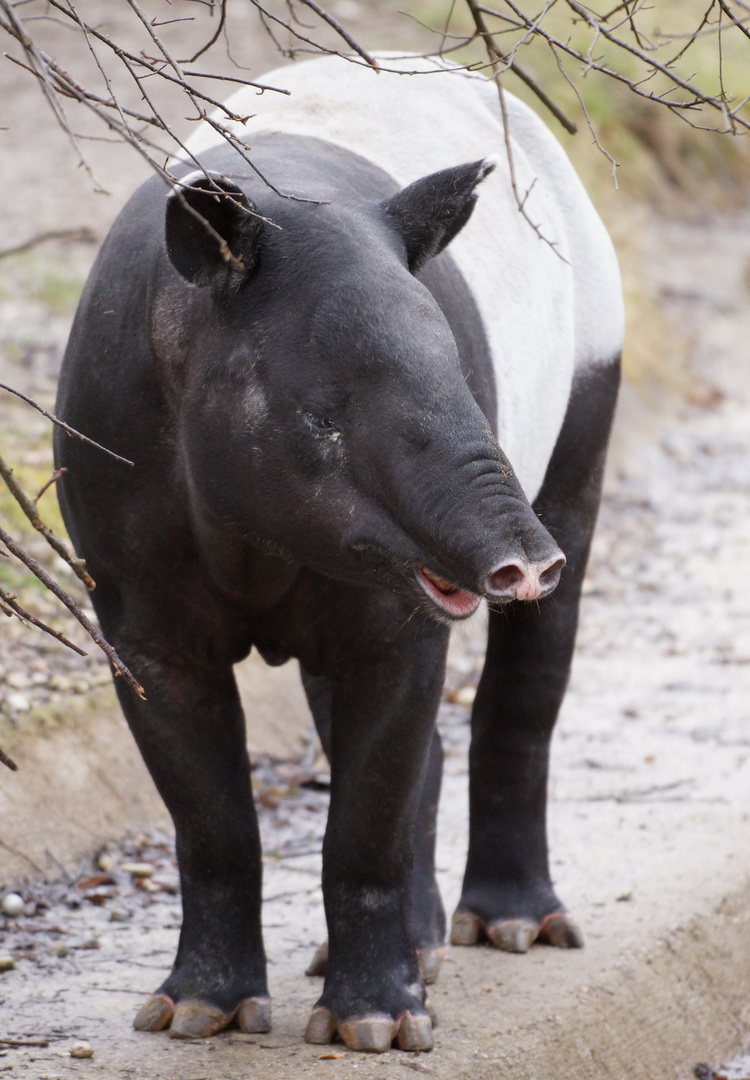
[(534, 941), (580, 947), (555, 895), (547, 855), (549, 744), (568, 678), (578, 602), (599, 508), (618, 365), (580, 377), (536, 500), (567, 557), (537, 604), (490, 617), (487, 656), (471, 717), (469, 856), (451, 941), (490, 940), (525, 953)]

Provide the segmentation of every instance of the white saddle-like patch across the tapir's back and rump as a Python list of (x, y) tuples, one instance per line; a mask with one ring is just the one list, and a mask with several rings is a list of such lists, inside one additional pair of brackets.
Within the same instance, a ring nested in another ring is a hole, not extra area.
[[(265, 81), (291, 96), (241, 91), (230, 99), (235, 112), (251, 116), (238, 133), (251, 147), (260, 132), (316, 135), (373, 161), (402, 185), (497, 156), (498, 167), (451, 255), (477, 301), (493, 355), (500, 445), (534, 498), (575, 372), (610, 362), (621, 349), (612, 244), (565, 154), (530, 109), (507, 96), (517, 184), (524, 195), (533, 185), (525, 207), (549, 243), (518, 212), (495, 85), (431, 60), (381, 63), (421, 73), (375, 73), (336, 58), (285, 67)], [(217, 139), (206, 125), (189, 147), (200, 153)]]

